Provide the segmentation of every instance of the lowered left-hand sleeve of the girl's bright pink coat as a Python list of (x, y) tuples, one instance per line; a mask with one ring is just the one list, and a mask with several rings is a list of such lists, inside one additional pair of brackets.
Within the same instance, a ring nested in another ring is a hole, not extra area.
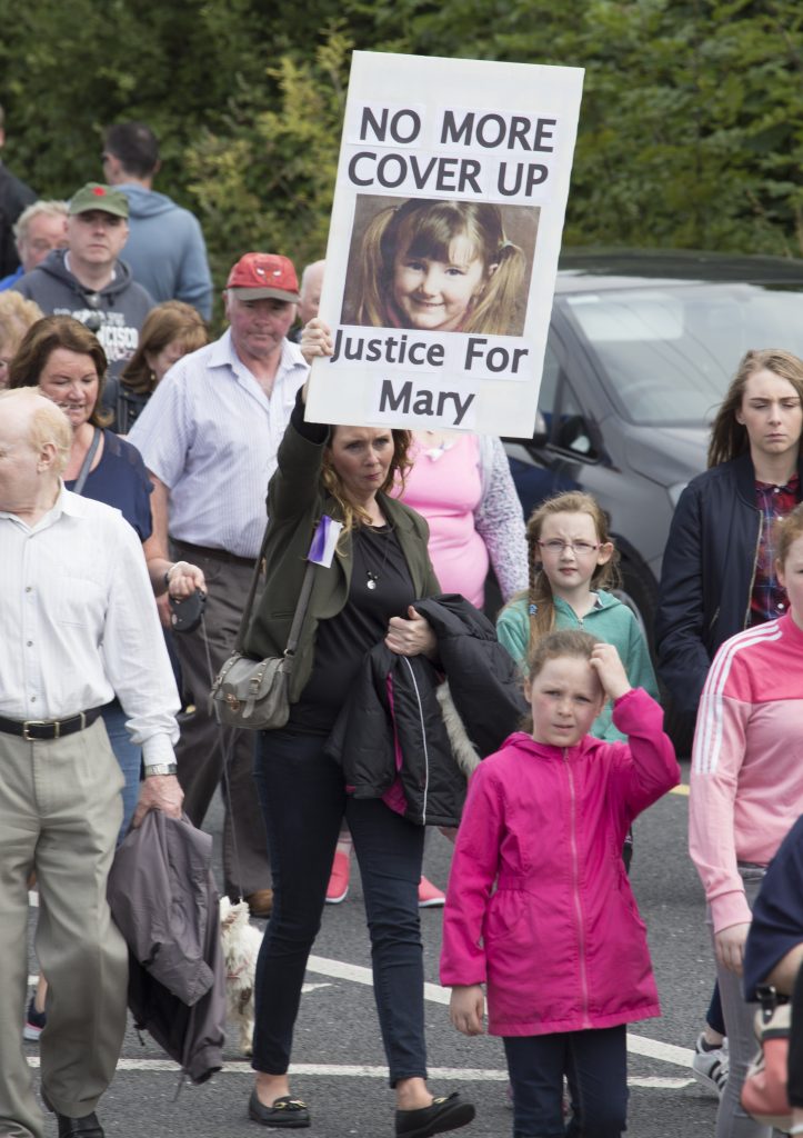
[(503, 786), (489, 756), (471, 776), (457, 831), (444, 910), (440, 982), (479, 984), (486, 980), (482, 931), (499, 865), (504, 832)]

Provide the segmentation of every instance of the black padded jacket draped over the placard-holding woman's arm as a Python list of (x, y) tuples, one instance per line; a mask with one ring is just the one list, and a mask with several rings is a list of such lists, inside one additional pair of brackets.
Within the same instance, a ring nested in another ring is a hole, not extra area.
[[(416, 601), (477, 757), (499, 749), (527, 711), (521, 678), (491, 622), (456, 594)], [(442, 676), (424, 657), (367, 653), (326, 745), (356, 798), (383, 798), (419, 825), (454, 826), (465, 798), (444, 723)], [(397, 781), (398, 776), (398, 781)]]

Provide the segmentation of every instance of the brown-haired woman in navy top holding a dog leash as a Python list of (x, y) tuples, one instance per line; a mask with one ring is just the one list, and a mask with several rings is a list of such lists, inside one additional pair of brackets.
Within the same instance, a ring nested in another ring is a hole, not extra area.
[[(142, 542), (148, 574), (158, 596), (175, 597), (204, 588), (204, 575), (185, 561), (165, 556), (152, 536), (150, 479), (139, 451), (106, 429), (102, 410), (106, 353), (84, 324), (72, 316), (45, 316), (23, 338), (9, 369), (10, 387), (38, 387), (64, 411), (73, 428), (73, 446), (64, 471), (68, 490), (106, 502), (119, 510)], [(115, 700), (104, 709), (111, 747), (125, 775), (123, 828), (136, 806), (140, 752), (132, 747), (125, 716)]]

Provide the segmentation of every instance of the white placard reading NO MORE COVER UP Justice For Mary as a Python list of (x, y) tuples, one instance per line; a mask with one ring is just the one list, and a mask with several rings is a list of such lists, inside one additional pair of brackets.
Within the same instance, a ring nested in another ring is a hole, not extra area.
[(532, 435), (582, 71), (356, 51), (316, 422)]

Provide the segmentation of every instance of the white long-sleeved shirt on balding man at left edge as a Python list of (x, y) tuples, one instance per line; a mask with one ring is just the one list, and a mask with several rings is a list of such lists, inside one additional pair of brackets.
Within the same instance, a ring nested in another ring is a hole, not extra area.
[(172, 762), (179, 693), (142, 545), (65, 489), (30, 527), (0, 511), (0, 715), (65, 719), (114, 699), (148, 764)]

